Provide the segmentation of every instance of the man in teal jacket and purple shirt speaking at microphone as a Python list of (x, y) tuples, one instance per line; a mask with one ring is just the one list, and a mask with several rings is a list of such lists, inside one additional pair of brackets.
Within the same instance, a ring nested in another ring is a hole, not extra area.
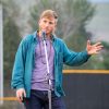
[(72, 66), (81, 65), (92, 55), (99, 53), (102, 48), (100, 43), (90, 45), (88, 40), (86, 50), (82, 52), (69, 50), (64, 41), (53, 34), (57, 22), (58, 15), (55, 11), (44, 11), (38, 22), (39, 29), (24, 37), (19, 46), (12, 73), (12, 87), (16, 89), (17, 99), (24, 100), (26, 109), (48, 109), (49, 85), (44, 33), (46, 34), (49, 77), (51, 80), (52, 109), (65, 109), (62, 99), (64, 95), (62, 89), (63, 63)]

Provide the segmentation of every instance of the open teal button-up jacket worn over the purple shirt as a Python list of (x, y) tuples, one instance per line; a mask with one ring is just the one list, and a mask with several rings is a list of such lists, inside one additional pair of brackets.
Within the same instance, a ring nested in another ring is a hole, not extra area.
[[(26, 96), (31, 94), (32, 70), (35, 63), (35, 47), (37, 45), (37, 32), (24, 37), (19, 46), (12, 72), (12, 88), (25, 88)], [(74, 52), (68, 49), (62, 39), (52, 35), (52, 46), (55, 48), (55, 93), (63, 96), (62, 69), (63, 63), (68, 65), (81, 65), (85, 63), (89, 55), (84, 50)], [(36, 56), (37, 57), (37, 56)]]

